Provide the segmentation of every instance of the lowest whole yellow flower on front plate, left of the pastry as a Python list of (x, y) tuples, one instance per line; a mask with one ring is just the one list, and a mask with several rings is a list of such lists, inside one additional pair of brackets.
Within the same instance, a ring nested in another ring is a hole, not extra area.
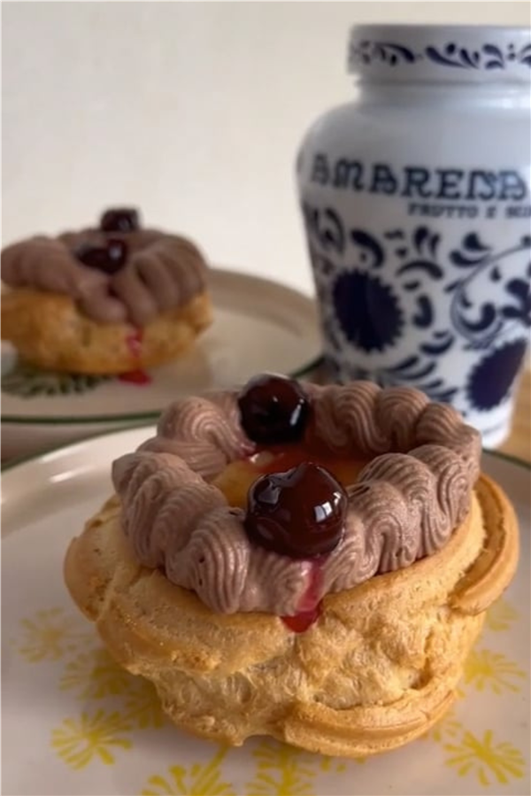
[(131, 748), (131, 740), (126, 737), (131, 726), (119, 713), (83, 712), (79, 719), (65, 719), (62, 726), (52, 730), (51, 746), (68, 766), (84, 769), (89, 762), (98, 758), (105, 765), (115, 762), (112, 747)]

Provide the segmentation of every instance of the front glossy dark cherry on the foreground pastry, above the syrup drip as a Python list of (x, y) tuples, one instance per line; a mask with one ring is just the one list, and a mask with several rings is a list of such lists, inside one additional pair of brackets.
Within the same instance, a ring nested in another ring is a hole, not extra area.
[(304, 462), (253, 483), (245, 530), (266, 550), (310, 559), (330, 553), (339, 543), (347, 505), (346, 492), (334, 475)]

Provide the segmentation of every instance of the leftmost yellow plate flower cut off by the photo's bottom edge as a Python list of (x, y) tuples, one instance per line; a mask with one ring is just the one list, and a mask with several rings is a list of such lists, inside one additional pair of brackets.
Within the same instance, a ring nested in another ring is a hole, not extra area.
[(141, 796), (234, 796), (232, 785), (223, 781), (220, 769), (226, 754), (227, 749), (222, 747), (204, 765), (171, 766), (165, 777), (150, 777)]

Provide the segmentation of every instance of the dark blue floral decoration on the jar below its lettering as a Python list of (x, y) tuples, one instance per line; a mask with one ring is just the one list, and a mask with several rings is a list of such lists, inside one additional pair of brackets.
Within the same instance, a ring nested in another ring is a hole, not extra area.
[[(428, 225), (377, 233), (351, 227), (332, 207), (304, 203), (303, 213), (327, 362), (338, 381), (411, 383), (434, 400), (459, 403), (464, 414), (510, 396), (531, 328), (531, 236), (496, 251), (473, 229), (445, 245)], [(404, 356), (401, 342), (412, 333), (418, 342)], [(447, 355), (456, 350), (468, 353), (465, 381), (451, 378)]]

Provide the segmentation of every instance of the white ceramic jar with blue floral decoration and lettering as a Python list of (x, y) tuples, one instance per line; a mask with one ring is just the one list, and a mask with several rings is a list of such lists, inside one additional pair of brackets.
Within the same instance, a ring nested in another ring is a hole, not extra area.
[(297, 158), (328, 365), (499, 444), (531, 327), (530, 31), (355, 27), (349, 71)]

